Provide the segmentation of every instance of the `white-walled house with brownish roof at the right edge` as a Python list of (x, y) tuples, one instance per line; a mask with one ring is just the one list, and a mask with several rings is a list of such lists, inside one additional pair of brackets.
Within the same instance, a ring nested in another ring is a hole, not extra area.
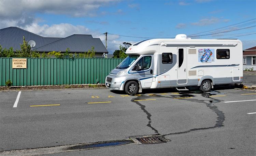
[(256, 70), (256, 46), (243, 50), (243, 70), (245, 68)]

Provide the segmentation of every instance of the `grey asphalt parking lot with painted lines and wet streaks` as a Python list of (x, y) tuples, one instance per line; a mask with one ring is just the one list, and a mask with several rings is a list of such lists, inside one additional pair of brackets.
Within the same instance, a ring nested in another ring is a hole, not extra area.
[[(227, 86), (0, 92), (0, 155), (256, 155), (254, 112), (255, 91)], [(168, 141), (118, 144), (147, 135)]]

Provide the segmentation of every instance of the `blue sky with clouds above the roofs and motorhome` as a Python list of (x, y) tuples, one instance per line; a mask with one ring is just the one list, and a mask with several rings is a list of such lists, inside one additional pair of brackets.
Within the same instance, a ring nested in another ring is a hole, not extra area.
[(255, 0), (1, 0), (0, 9), (1, 28), (16, 26), (48, 37), (92, 34), (101, 38), (103, 43), (105, 36), (101, 34), (108, 32), (110, 53), (122, 42), (191, 35), (240, 22), (240, 27), (233, 27), (241, 30), (233, 28), (235, 31), (198, 38), (233, 37), (242, 40), (243, 49), (256, 46)]

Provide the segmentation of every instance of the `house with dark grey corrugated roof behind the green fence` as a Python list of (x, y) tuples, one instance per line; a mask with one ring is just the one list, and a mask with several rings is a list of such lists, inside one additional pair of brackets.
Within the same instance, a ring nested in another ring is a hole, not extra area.
[(43, 37), (18, 27), (0, 29), (0, 45), (7, 49), (13, 47), (16, 52), (16, 50), (20, 50), (23, 36), (26, 41), (35, 41), (35, 47), (32, 50), (39, 53), (51, 51), (65, 52), (67, 48), (70, 49), (70, 53), (84, 53), (93, 46), (96, 51), (95, 57), (103, 57), (103, 53), (108, 54), (108, 50), (102, 41), (99, 38), (93, 38), (91, 35), (73, 34), (65, 38)]

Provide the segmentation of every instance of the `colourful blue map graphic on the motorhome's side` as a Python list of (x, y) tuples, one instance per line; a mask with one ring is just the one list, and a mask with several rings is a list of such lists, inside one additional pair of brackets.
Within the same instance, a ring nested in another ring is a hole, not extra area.
[(214, 49), (198, 49), (198, 62), (214, 62)]

